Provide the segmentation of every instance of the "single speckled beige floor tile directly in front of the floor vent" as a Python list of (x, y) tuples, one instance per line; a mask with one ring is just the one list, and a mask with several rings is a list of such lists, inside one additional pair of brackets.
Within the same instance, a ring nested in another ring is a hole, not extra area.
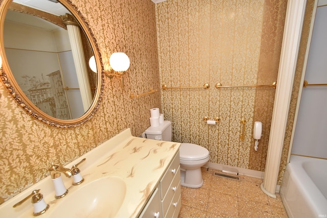
[(210, 185), (211, 192), (219, 192), (237, 197), (237, 183), (239, 181), (213, 176)]

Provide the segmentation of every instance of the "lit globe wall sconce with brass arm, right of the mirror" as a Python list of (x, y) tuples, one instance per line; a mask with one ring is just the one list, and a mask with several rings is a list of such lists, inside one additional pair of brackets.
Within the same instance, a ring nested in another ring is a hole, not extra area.
[(129, 58), (124, 52), (115, 52), (109, 58), (109, 63), (104, 64), (104, 73), (109, 78), (114, 76), (119, 77), (121, 80), (121, 87), (124, 88), (123, 75), (129, 68)]

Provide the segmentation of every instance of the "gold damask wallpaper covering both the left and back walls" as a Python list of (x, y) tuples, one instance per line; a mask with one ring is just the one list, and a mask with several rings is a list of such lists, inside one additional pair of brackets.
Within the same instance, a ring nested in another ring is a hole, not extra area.
[[(68, 0), (62, 0), (68, 1)], [(2, 3), (3, 0), (0, 0)], [(264, 171), (274, 89), (222, 85), (270, 85), (277, 77), (287, 0), (72, 0), (94, 33), (102, 62), (123, 51), (131, 61), (124, 90), (105, 78), (99, 110), (74, 129), (33, 120), (0, 86), (0, 203), (49, 175), (50, 161), (71, 162), (121, 130), (133, 135), (161, 108), (173, 123), (173, 140), (202, 145), (210, 160)], [(208, 90), (161, 90), (202, 86)], [(150, 88), (159, 91), (130, 99)], [(204, 116), (221, 122), (208, 126)], [(246, 120), (240, 141), (241, 119)], [(252, 127), (263, 122), (254, 151)]]

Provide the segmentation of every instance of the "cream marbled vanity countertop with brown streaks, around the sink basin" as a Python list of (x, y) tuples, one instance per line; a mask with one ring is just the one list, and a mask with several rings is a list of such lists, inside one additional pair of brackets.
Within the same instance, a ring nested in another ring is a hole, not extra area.
[[(179, 147), (180, 143), (133, 137), (130, 129), (126, 129), (65, 166), (71, 168), (72, 165), (86, 158), (79, 165), (81, 175), (85, 179), (82, 184), (74, 186), (72, 178), (63, 178), (64, 184), (69, 190), (67, 196), (92, 181), (103, 177), (119, 177), (126, 184), (126, 195), (114, 217), (137, 217)], [(56, 210), (57, 205), (65, 201), (66, 197), (58, 200), (54, 198), (54, 187), (49, 176), (0, 205), (1, 216), (35, 217), (32, 215), (33, 205), (30, 200), (28, 200), (29, 203), (25, 202), (17, 208), (12, 208), (12, 205), (31, 194), (34, 189), (41, 189), (40, 193), (43, 194), (45, 202), (50, 205), (49, 210), (40, 215), (40, 218), (51, 216), (51, 211)], [(114, 196), (112, 197), (114, 198)], [(74, 202), (67, 203), (74, 205)], [(91, 216), (85, 214), (85, 217)], [(108, 215), (104, 214), (103, 217), (108, 217)]]

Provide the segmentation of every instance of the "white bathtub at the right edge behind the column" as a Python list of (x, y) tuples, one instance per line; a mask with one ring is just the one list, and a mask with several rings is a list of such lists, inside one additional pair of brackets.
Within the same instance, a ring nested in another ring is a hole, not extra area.
[(327, 160), (291, 155), (279, 192), (289, 217), (327, 217)]

